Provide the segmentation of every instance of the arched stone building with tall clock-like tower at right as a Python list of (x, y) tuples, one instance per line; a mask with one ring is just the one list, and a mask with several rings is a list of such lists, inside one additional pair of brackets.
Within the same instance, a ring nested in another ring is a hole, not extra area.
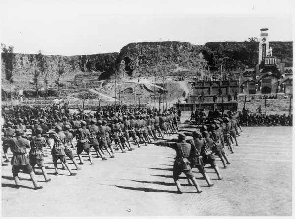
[(292, 67), (285, 67), (269, 47), (267, 28), (262, 28), (259, 39), (258, 64), (240, 75), (240, 94), (284, 96), (292, 94)]

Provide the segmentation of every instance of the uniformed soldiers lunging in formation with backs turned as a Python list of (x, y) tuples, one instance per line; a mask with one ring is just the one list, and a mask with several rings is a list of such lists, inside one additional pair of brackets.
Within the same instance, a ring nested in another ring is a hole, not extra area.
[[(5, 163), (9, 161), (7, 151), (10, 148), (13, 153), (11, 164), (16, 188), (20, 188), (18, 173), (23, 170), (29, 173), (34, 188), (41, 189), (42, 186), (38, 185), (34, 173), (36, 165), (41, 168), (45, 182), (51, 181), (44, 165), (45, 147), (49, 146), (51, 149), (55, 175), (59, 175), (58, 160), (60, 160), (62, 169), (67, 169), (70, 176), (75, 176), (77, 173), (73, 173), (66, 156), (72, 160), (76, 170), (80, 170), (79, 165), (84, 164), (83, 151), (88, 154), (90, 164), (94, 164), (91, 155), (92, 147), (97, 157), (107, 160), (106, 155), (114, 158), (115, 151), (125, 153), (126, 150), (134, 150), (130, 142), (132, 138), (137, 147), (153, 143), (157, 146), (175, 149), (173, 178), (178, 188), (177, 192), (182, 193), (178, 178), (183, 172), (186, 174), (189, 183), (191, 184), (192, 181), (197, 192), (200, 193), (202, 191), (192, 175), (191, 168), (197, 167), (209, 186), (213, 186), (213, 184), (204, 169), (205, 164), (211, 164), (218, 175), (218, 179), (222, 179), (215, 162), (215, 155), (221, 159), (224, 168), (227, 167), (227, 164), (230, 164), (224, 145), (226, 144), (232, 153), (234, 153), (233, 139), (238, 145), (236, 135), (239, 135), (239, 132), (236, 125), (236, 116), (236, 112), (230, 111), (224, 117), (214, 119), (210, 124), (197, 126), (195, 131), (182, 133), (179, 133), (178, 122), (180, 117), (177, 111), (165, 111), (161, 114), (150, 112), (148, 114), (147, 111), (142, 109), (133, 114), (117, 114), (114, 112), (111, 115), (101, 115), (100, 113), (89, 113), (89, 115), (85, 115), (83, 120), (77, 115), (72, 116), (72, 120), (63, 116), (56, 118), (54, 131), (48, 128), (44, 118), (32, 120), (29, 126), (23, 124), (22, 118), (18, 118), (17, 123), (13, 124), (8, 121), (2, 128), (4, 134), (2, 148), (6, 158), (6, 160), (2, 159), (2, 166), (7, 165)], [(31, 131), (30, 135), (26, 134), (27, 129)], [(176, 133), (179, 135), (177, 139), (164, 139), (164, 135), (170, 136)], [(192, 136), (193, 140), (186, 139), (186, 136)], [(76, 145), (73, 141), (74, 138), (77, 141)], [(74, 150), (76, 150), (79, 163), (73, 153)]]

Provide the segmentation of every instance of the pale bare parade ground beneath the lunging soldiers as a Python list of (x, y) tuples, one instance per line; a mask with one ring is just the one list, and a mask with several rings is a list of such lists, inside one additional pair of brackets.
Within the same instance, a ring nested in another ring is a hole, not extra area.
[[(177, 135), (168, 138), (173, 137)], [(193, 169), (201, 194), (187, 185), (184, 174), (183, 194), (177, 194), (171, 148), (134, 146), (124, 154), (116, 151), (115, 158), (106, 156), (107, 161), (95, 158), (93, 150), (94, 165), (83, 152), (84, 165), (73, 170), (73, 177), (67, 170), (53, 174), (47, 148), (44, 159), (51, 182), (45, 183), (36, 168), (41, 190), (34, 190), (29, 175), (22, 172), (21, 188), (16, 189), (11, 165), (2, 166), (2, 216), (291, 216), (292, 127), (243, 127), (237, 140), (235, 153), (227, 153), (227, 169), (216, 158), (223, 180), (206, 165), (213, 187)]]

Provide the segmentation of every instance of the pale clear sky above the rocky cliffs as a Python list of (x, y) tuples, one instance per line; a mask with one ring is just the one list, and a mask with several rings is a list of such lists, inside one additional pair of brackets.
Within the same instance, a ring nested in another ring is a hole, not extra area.
[(132, 42), (293, 40), (293, 0), (1, 0), (1, 43), (15, 53), (120, 52)]

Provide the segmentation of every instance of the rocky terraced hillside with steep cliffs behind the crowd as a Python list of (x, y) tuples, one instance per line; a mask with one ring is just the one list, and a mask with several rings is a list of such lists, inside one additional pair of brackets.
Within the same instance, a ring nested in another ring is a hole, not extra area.
[[(285, 66), (292, 66), (292, 42), (270, 42), (273, 54), (278, 55)], [(119, 53), (105, 53), (79, 56), (13, 54), (15, 58), (12, 84), (13, 95), (23, 89), (28, 97), (36, 96), (36, 84), (33, 82), (35, 72), (40, 72), (37, 87), (44, 90), (40, 96), (47, 96), (44, 79), (47, 77), (48, 94), (57, 96), (58, 90), (63, 96), (81, 94), (95, 98), (95, 92), (115, 97), (115, 81), (126, 82), (122, 90), (116, 90), (123, 96), (153, 95), (154, 84), (178, 83), (182, 76), (187, 80), (203, 80), (205, 67), (210, 65), (208, 79), (218, 79), (219, 66), (235, 79), (243, 69), (255, 66), (258, 60), (258, 42), (210, 42), (192, 45), (188, 42), (141, 42), (124, 46)], [(43, 60), (45, 71), (40, 69)], [(2, 53), (2, 89), (10, 91), (10, 83), (5, 80), (5, 54)], [(64, 74), (59, 78), (58, 72)], [(155, 82), (155, 73), (157, 73)], [(45, 77), (46, 76), (46, 77)], [(169, 77), (168, 77), (169, 76)], [(59, 78), (60, 84), (57, 85)], [(132, 79), (146, 78), (149, 85), (129, 83)], [(171, 82), (168, 82), (172, 80)], [(181, 87), (181, 86), (180, 86)], [(89, 91), (89, 89), (91, 89)], [(183, 93), (179, 91), (180, 93)], [(161, 89), (156, 89), (161, 94)], [(9, 94), (8, 94), (9, 95)], [(182, 94), (180, 95), (180, 97)], [(178, 98), (178, 95), (177, 95)], [(183, 97), (184, 98), (184, 97)], [(132, 99), (132, 98), (129, 98)], [(136, 98), (135, 98), (136, 99)]]

